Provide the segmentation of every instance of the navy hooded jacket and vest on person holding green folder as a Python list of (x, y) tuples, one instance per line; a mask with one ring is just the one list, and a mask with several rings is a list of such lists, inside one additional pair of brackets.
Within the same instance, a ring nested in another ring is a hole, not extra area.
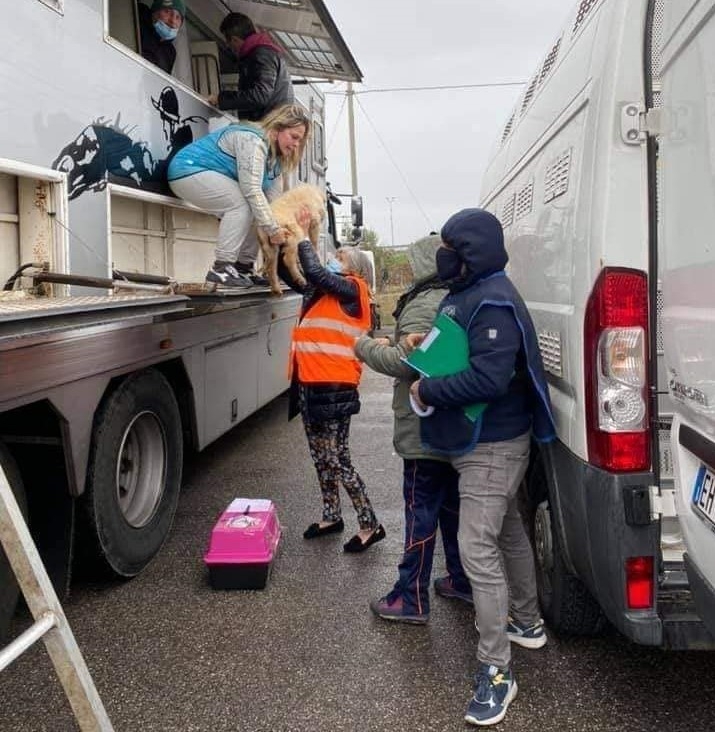
[[(465, 209), (447, 221), (441, 235), (464, 269), (449, 282), (439, 312), (467, 331), (471, 368), (420, 382), (420, 398), (436, 407), (432, 416), (421, 420), (425, 447), (460, 455), (477, 442), (502, 442), (530, 429), (537, 440), (553, 439), (536, 332), (524, 301), (504, 272), (509, 257), (501, 224), (488, 211)], [(477, 402), (487, 408), (477, 422), (471, 422), (462, 407)]]

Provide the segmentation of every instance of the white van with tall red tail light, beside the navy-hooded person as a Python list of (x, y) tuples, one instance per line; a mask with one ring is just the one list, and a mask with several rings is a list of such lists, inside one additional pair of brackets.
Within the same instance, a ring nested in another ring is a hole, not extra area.
[[(666, 270), (700, 266), (710, 246), (712, 8), (578, 2), (483, 182), (481, 205), (503, 224), (550, 384), (558, 439), (535, 453), (526, 495), (542, 609), (565, 633), (595, 633), (608, 619), (641, 644), (715, 647), (682, 534), (688, 522), (708, 529), (713, 514), (676, 500), (673, 473), (678, 450), (687, 490), (699, 463), (713, 469), (712, 447), (687, 463), (677, 438), (712, 440), (712, 423), (694, 417), (696, 397), (673, 423), (661, 321)], [(693, 231), (700, 238), (686, 242)], [(680, 275), (676, 310), (693, 293)], [(675, 335), (666, 345), (671, 367), (689, 375), (681, 389), (671, 373), (671, 387), (696, 394), (703, 340), (690, 351)]]

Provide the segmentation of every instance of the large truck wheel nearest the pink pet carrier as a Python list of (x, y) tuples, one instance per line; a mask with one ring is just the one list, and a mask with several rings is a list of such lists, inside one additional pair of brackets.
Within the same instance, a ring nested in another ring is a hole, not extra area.
[(179, 407), (154, 369), (130, 376), (95, 416), (85, 534), (100, 569), (133, 577), (169, 534), (179, 501), (183, 440)]

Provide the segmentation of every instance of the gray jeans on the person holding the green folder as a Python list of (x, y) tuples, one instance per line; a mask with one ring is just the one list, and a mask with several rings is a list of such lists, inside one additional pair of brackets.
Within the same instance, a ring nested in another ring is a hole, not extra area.
[(452, 458), (459, 472), (459, 555), (479, 627), (477, 659), (502, 669), (511, 661), (509, 613), (528, 625), (539, 619), (534, 555), (517, 504), (529, 444), (527, 432)]

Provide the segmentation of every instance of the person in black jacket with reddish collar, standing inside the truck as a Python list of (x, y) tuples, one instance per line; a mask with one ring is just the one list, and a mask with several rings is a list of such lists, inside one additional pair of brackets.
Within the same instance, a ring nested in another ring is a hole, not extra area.
[(293, 84), (283, 49), (268, 33), (259, 33), (243, 13), (229, 13), (220, 31), (238, 58), (238, 89), (207, 98), (219, 109), (235, 110), (239, 119), (257, 120), (272, 109), (293, 104)]

